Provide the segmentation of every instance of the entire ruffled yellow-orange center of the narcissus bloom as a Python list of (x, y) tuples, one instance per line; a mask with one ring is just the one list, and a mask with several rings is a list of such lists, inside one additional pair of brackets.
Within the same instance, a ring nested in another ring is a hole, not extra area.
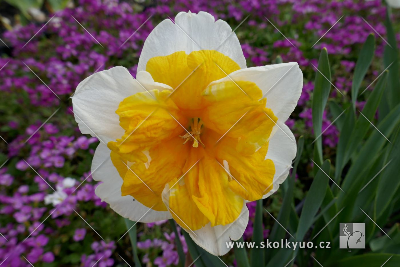
[(108, 148), (123, 196), (194, 231), (232, 223), (244, 200), (272, 189), (274, 162), (265, 158), (277, 118), (255, 83), (222, 79), (238, 69), (211, 50), (148, 61), (154, 81), (173, 90), (146, 87), (116, 110), (125, 134)]

